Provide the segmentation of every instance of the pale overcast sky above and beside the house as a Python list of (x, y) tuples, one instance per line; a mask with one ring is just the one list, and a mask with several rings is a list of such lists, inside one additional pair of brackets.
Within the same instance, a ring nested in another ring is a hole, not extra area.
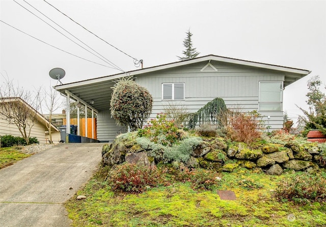
[[(177, 61), (185, 32), (193, 33), (200, 56), (209, 54), (311, 70), (286, 87), (283, 110), (295, 118), (306, 107), (307, 81), (326, 83), (326, 1), (53, 1), (61, 12), (116, 48), (96, 38), (44, 1), (15, 0), (80, 43), (37, 10), (124, 71)], [(56, 85), (48, 72), (66, 71), (70, 83), (121, 72), (48, 26), (14, 1), (0, 0), (0, 71), (25, 89)], [(29, 5), (30, 4), (30, 5)], [(87, 48), (87, 47), (85, 47)], [(87, 59), (89, 61), (83, 60)], [(105, 67), (93, 62), (103, 64)], [(3, 78), (0, 78), (3, 83)]]

